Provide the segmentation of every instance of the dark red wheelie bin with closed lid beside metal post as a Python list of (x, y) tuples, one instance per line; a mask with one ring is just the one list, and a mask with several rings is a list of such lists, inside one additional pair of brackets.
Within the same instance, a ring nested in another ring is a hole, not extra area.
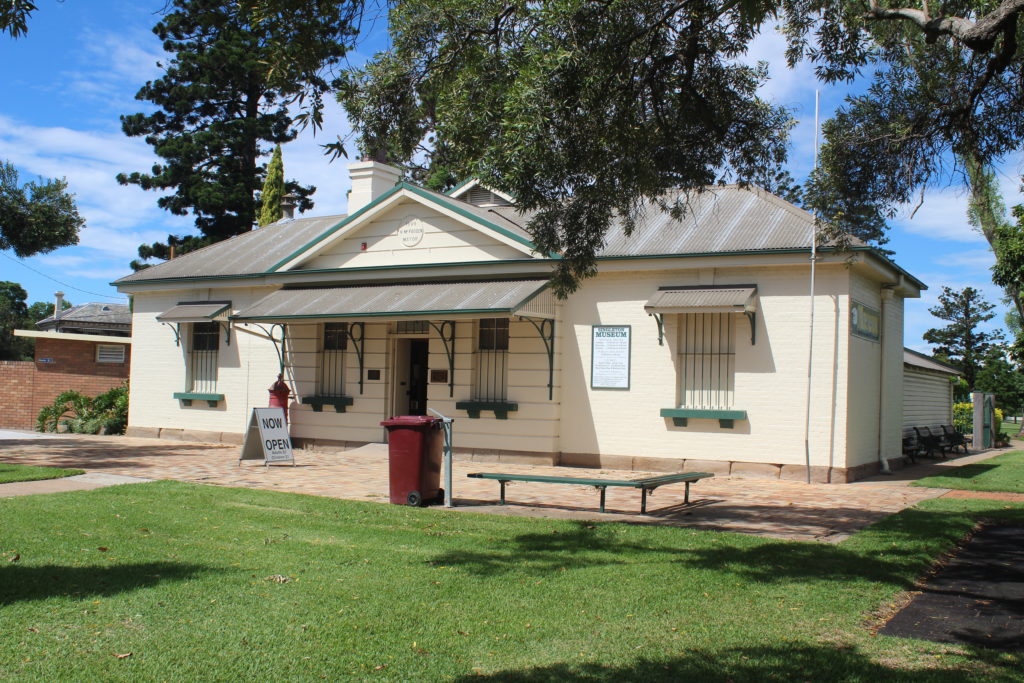
[(395, 505), (421, 506), (442, 501), (441, 421), (424, 415), (401, 415), (386, 427), (390, 498)]

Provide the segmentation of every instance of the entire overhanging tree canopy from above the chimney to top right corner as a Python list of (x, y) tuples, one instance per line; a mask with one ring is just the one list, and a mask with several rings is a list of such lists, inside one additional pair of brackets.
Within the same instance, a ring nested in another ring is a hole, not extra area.
[[(788, 119), (757, 99), (763, 72), (737, 63), (766, 23), (781, 19), (791, 63), (810, 59), (828, 82), (873, 79), (826, 125), (805, 188), (834, 227), (881, 243), (886, 219), (943, 170), (941, 153), (986, 166), (1020, 146), (1022, 11), (1024, 0), (404, 0), (391, 48), (339, 97), (364, 154), (428, 186), (477, 175), (536, 210), (536, 241), (566, 257), (564, 293), (593, 272), (604, 231), (618, 220), (629, 231), (641, 207), (680, 212), (723, 179), (773, 188)], [(683, 200), (666, 202), (676, 186)]]

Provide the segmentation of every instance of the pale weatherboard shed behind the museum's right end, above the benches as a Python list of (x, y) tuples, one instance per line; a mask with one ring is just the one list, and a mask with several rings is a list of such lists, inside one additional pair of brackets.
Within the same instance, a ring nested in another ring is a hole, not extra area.
[(903, 349), (903, 426), (951, 425), (953, 385), (961, 371), (940, 360)]

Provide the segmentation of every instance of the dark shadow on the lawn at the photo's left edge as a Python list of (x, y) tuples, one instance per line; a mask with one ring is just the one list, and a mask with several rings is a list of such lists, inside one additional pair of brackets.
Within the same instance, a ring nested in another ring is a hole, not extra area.
[(14, 564), (0, 567), (0, 605), (52, 597), (117, 595), (157, 584), (188, 581), (212, 570), (181, 562), (112, 566)]

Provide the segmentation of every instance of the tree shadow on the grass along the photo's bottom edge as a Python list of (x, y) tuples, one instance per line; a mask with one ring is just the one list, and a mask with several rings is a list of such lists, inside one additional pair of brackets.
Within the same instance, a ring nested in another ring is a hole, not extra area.
[[(638, 659), (626, 666), (558, 663), (531, 669), (493, 674), (474, 674), (456, 681), (506, 681), (508, 683), (555, 683), (563, 681), (924, 681), (986, 680), (993, 683), (1019, 681), (1011, 656), (984, 649), (972, 657), (986, 665), (984, 676), (975, 676), (963, 665), (934, 663), (910, 669), (905, 663), (881, 663), (853, 647), (836, 645), (775, 645), (725, 650), (691, 650), (684, 656)], [(980, 667), (978, 668), (980, 669)], [(1001, 670), (1001, 671), (1000, 671)]]

